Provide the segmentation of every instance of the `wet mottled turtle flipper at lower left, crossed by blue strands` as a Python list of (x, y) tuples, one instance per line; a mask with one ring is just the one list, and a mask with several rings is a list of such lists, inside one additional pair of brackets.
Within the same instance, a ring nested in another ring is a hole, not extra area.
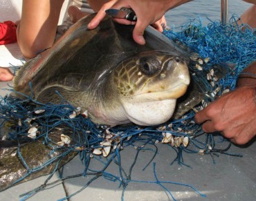
[[(58, 130), (49, 133), (51, 140), (60, 141), (61, 133), (68, 131)], [(54, 139), (53, 139), (53, 138)], [(77, 151), (67, 151), (55, 143), (45, 144), (43, 140), (21, 144), (19, 148), (0, 148), (0, 191), (10, 188), (21, 182), (26, 182), (42, 175), (52, 173), (66, 164), (77, 155)], [(51, 162), (51, 163), (49, 163)]]

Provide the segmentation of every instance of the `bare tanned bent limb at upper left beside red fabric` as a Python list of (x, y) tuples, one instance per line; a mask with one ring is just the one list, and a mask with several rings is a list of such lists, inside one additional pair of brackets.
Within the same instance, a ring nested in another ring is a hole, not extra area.
[(25, 57), (50, 48), (64, 0), (24, 0), (17, 39)]

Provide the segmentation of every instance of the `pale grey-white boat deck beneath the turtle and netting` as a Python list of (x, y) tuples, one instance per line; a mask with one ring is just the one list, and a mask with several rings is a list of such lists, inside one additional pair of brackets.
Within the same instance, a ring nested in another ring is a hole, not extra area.
[[(0, 5), (0, 21), (16, 21), (21, 13), (21, 0), (1, 0)], [(0, 46), (0, 66), (18, 66), (21, 64), (22, 55), (17, 44)], [(6, 88), (11, 82), (1, 82), (0, 87)], [(6, 91), (1, 90), (1, 95)], [(152, 148), (152, 147), (151, 147)], [(256, 198), (256, 146), (255, 143), (246, 148), (232, 146), (230, 151), (233, 153), (241, 153), (244, 157), (234, 157), (230, 155), (214, 156), (216, 164), (213, 164), (210, 155), (197, 155), (183, 153), (185, 164), (192, 166), (192, 169), (186, 166), (180, 166), (174, 163), (176, 153), (170, 147), (164, 144), (158, 144), (158, 155), (154, 159), (156, 162), (156, 174), (159, 180), (182, 182), (190, 184), (198, 189), (201, 193), (207, 195), (202, 198), (192, 189), (176, 184), (164, 184), (167, 189), (172, 192), (177, 200), (255, 200)], [(121, 151), (122, 166), (128, 172), (129, 167), (134, 161), (136, 149), (129, 147)], [(153, 173), (153, 164), (150, 164), (145, 171), (143, 167), (151, 160), (152, 151), (141, 152), (138, 162), (134, 166), (131, 173), (133, 180), (155, 181)], [(96, 169), (97, 162), (92, 161), (91, 165)], [(78, 157), (68, 162), (64, 167), (65, 175), (74, 175), (82, 173), (84, 166)], [(111, 165), (107, 171), (116, 173), (118, 169), (115, 165)], [(34, 188), (44, 184), (47, 176), (30, 180), (13, 186), (6, 191), (0, 192), (1, 201), (19, 200), (19, 195), (31, 191)], [(55, 173), (53, 180), (58, 178)], [(47, 187), (44, 191), (35, 194), (29, 200), (59, 200), (71, 195), (79, 190), (89, 181), (90, 178), (74, 178), (66, 180), (63, 183), (55, 184)], [(69, 200), (121, 200), (122, 186), (118, 188), (118, 182), (111, 182), (104, 178), (99, 178), (92, 182), (86, 189), (73, 196)], [(125, 191), (125, 200), (172, 200), (167, 193), (157, 184), (133, 183), (130, 182)]]

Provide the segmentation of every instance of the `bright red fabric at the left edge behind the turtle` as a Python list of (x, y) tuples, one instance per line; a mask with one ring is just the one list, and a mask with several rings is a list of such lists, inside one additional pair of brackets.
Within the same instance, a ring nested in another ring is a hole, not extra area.
[(17, 41), (16, 25), (12, 21), (0, 23), (0, 45), (12, 44)]

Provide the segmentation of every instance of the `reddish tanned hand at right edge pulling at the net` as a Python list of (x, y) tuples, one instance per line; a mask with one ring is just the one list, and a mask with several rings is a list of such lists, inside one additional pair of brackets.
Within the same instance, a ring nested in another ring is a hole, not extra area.
[(203, 131), (221, 131), (235, 144), (246, 144), (256, 135), (255, 86), (243, 86), (223, 95), (195, 115)]

